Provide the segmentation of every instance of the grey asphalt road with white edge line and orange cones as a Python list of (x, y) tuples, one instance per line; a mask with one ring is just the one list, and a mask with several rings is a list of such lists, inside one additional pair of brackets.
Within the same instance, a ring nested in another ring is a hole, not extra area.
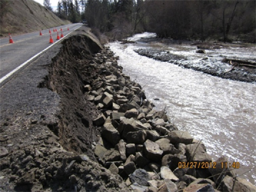
[[(56, 28), (61, 36), (61, 31), (63, 31), (63, 36), (68, 35), (68, 33), (76, 30), (83, 24), (68, 24), (65, 26), (59, 26)], [(69, 30), (67, 30), (69, 29)], [(60, 40), (56, 40), (57, 32), (53, 32), (53, 28), (51, 28), (52, 39), (55, 42), (60, 42)], [(8, 81), (10, 77), (12, 77), (15, 73), (18, 72), (17, 67), (22, 64), (26, 64), (31, 62), (37, 56), (36, 54), (42, 52), (47, 47), (51, 46), (49, 44), (50, 41), (50, 33), (49, 29), (45, 29), (42, 31), (42, 36), (40, 36), (40, 31), (34, 33), (28, 33), (19, 36), (12, 36), (13, 44), (9, 44), (9, 38), (4, 38), (0, 40), (0, 84), (2, 85), (4, 81)], [(62, 39), (62, 38), (61, 38)], [(33, 58), (36, 56), (35, 58)], [(29, 59), (33, 58), (31, 61)], [(25, 63), (26, 62), (26, 63)], [(22, 65), (22, 67), (24, 67)], [(27, 64), (26, 64), (27, 65)], [(12, 75), (10, 72), (13, 70), (17, 70)], [(10, 77), (9, 77), (10, 76)]]

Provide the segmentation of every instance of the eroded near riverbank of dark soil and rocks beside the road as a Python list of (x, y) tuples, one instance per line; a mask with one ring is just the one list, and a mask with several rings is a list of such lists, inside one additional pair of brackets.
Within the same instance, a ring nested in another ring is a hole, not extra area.
[[(54, 51), (26, 69), (31, 77), (47, 69), (29, 99), (1, 109), (1, 190), (255, 191), (223, 167), (225, 157), (212, 162), (203, 143), (156, 111), (85, 29)], [(22, 111), (34, 99), (38, 111)]]

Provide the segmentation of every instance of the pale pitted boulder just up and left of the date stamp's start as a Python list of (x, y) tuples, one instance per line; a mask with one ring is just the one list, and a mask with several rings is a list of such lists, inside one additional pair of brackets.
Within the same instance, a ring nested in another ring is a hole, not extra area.
[(150, 159), (156, 162), (161, 161), (163, 150), (159, 148), (159, 145), (157, 145), (157, 143), (154, 143), (153, 141), (150, 141), (150, 140), (145, 141), (143, 152), (145, 154), (145, 157), (147, 157), (147, 159)]

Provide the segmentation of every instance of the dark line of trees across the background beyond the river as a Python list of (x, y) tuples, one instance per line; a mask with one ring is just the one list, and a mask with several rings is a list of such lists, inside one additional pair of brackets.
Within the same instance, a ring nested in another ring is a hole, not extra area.
[(60, 0), (55, 13), (86, 19), (112, 40), (150, 31), (161, 38), (255, 42), (255, 12), (251, 0)]

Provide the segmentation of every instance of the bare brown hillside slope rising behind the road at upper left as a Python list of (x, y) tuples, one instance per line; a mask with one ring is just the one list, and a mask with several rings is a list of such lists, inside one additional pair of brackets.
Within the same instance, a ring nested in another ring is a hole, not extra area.
[(1, 28), (0, 36), (18, 35), (53, 28), (70, 23), (61, 20), (51, 11), (33, 0), (6, 0), (7, 6), (1, 2)]

